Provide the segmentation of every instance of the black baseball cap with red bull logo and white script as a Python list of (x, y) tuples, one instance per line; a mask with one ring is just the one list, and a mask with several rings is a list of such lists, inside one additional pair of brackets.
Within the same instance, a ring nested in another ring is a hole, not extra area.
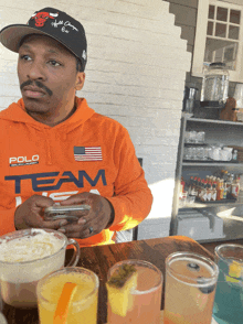
[(80, 58), (83, 69), (87, 62), (87, 42), (83, 25), (67, 13), (44, 8), (35, 11), (27, 24), (11, 24), (0, 31), (0, 42), (9, 50), (19, 52), (21, 40), (29, 34), (47, 35)]

